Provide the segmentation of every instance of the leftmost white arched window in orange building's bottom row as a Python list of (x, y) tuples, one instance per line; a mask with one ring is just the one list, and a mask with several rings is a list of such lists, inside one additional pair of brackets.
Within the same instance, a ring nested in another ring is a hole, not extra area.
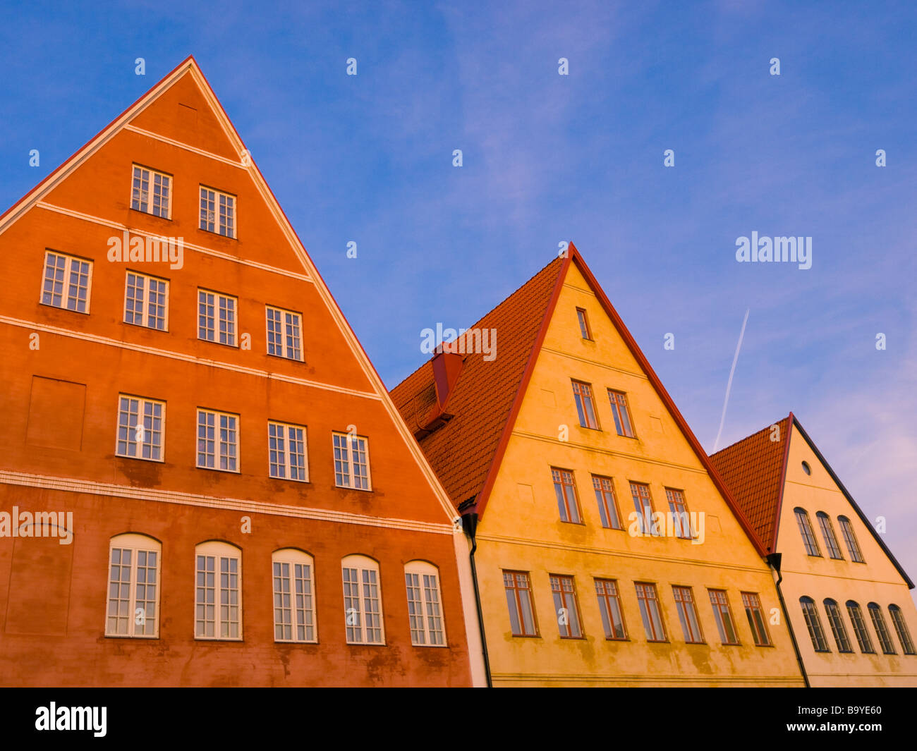
[(155, 638), (159, 635), (160, 557), (152, 537), (117, 535), (111, 539), (106, 636)]

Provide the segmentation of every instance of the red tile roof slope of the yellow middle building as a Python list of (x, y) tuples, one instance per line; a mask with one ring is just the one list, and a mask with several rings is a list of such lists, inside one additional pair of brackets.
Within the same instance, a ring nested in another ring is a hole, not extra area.
[[(470, 329), (496, 331), (496, 357), (464, 355), (444, 410), (454, 416), (420, 439), (430, 465), (452, 502), (458, 505), (481, 492), (503, 429), (523, 381), (525, 366), (536, 353), (536, 340), (547, 315), (564, 260), (552, 260), (522, 287)], [(470, 335), (458, 337), (458, 341)], [(412, 431), (425, 424), (436, 403), (432, 360), (392, 389), (392, 401)]]

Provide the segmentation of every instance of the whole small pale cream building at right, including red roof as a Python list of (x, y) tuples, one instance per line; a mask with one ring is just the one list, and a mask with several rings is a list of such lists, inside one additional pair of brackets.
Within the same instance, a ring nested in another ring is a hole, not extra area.
[(917, 686), (913, 583), (792, 413), (711, 457), (768, 553), (812, 686)]

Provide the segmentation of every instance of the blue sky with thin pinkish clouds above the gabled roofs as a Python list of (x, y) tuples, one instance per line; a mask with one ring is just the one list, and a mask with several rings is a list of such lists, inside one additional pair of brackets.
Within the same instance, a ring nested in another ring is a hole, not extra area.
[(793, 410), (917, 579), (913, 39), (910, 3), (5, 0), (0, 204), (193, 54), (387, 385), (573, 240), (708, 450), (748, 309), (720, 447)]

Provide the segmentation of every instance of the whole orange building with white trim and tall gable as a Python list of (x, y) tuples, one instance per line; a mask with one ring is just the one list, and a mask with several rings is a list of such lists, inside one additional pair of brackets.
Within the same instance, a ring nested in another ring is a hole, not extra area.
[(0, 268), (0, 684), (481, 683), (454, 509), (193, 59)]

